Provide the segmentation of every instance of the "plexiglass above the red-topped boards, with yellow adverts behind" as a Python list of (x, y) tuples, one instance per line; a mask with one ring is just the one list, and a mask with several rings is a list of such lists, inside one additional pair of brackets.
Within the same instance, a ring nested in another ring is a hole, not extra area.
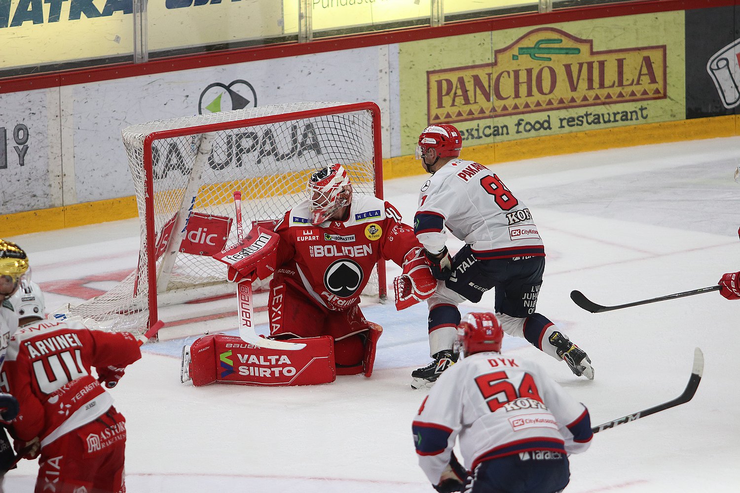
[(0, 78), (615, 0), (0, 0)]

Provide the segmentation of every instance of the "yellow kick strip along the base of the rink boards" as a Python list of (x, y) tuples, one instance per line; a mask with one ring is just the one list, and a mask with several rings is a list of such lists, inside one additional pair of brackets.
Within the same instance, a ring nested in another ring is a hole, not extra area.
[[(556, 154), (681, 140), (732, 137), (733, 135), (740, 135), (740, 115), (647, 123), (548, 137), (533, 137), (474, 146), (464, 149), (463, 155), (465, 159), (494, 164)], [(423, 169), (420, 162), (413, 156), (391, 157), (383, 160), (383, 177), (386, 180), (418, 174), (423, 174)], [(136, 197), (133, 196), (6, 214), (0, 216), (0, 238), (130, 219), (137, 215)]]

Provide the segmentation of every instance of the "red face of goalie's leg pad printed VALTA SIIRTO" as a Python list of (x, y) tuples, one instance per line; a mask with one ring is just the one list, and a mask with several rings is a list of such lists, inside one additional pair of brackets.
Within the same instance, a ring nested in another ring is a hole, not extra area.
[(281, 387), (328, 384), (336, 379), (331, 337), (291, 339), (289, 342), (305, 344), (305, 347), (270, 349), (249, 344), (236, 336), (215, 336), (211, 361), (211, 365), (215, 361), (217, 367), (215, 380), (222, 384)]

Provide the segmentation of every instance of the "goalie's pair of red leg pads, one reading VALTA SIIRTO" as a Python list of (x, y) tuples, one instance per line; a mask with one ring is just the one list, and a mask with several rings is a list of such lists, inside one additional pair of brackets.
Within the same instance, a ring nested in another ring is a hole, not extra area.
[[(372, 374), (375, 348), (383, 327), (370, 323), (363, 367), (357, 373)], [(337, 377), (334, 340), (330, 336), (291, 339), (305, 344), (300, 350), (261, 347), (237, 336), (209, 334), (183, 347), (181, 381), (193, 385), (220, 384), (292, 385), (329, 384)]]

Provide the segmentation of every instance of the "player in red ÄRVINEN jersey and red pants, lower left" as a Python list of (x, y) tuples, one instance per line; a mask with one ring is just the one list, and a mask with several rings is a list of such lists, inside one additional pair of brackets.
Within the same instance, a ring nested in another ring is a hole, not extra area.
[(40, 447), (36, 493), (123, 493), (126, 420), (101, 381), (114, 386), (124, 367), (141, 358), (138, 341), (130, 333), (42, 319), (36, 289), (30, 285), (24, 296), (21, 324), (27, 323), (10, 338), (2, 367), (2, 381), (20, 404), (10, 427), (16, 448), (34, 458)]

